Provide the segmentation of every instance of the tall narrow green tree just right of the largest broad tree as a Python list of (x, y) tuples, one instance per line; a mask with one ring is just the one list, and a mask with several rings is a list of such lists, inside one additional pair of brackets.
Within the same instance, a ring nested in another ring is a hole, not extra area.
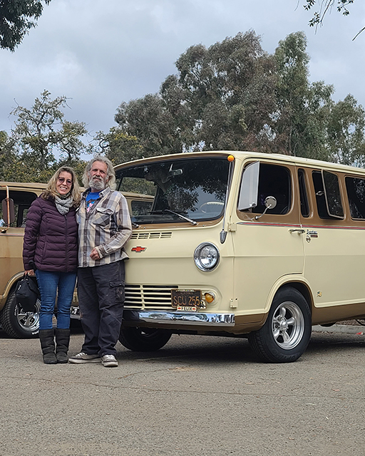
[(326, 125), (334, 88), (323, 82), (309, 83), (306, 50), (307, 38), (297, 32), (279, 41), (275, 51), (278, 78), (273, 144), (278, 152), (326, 160)]

